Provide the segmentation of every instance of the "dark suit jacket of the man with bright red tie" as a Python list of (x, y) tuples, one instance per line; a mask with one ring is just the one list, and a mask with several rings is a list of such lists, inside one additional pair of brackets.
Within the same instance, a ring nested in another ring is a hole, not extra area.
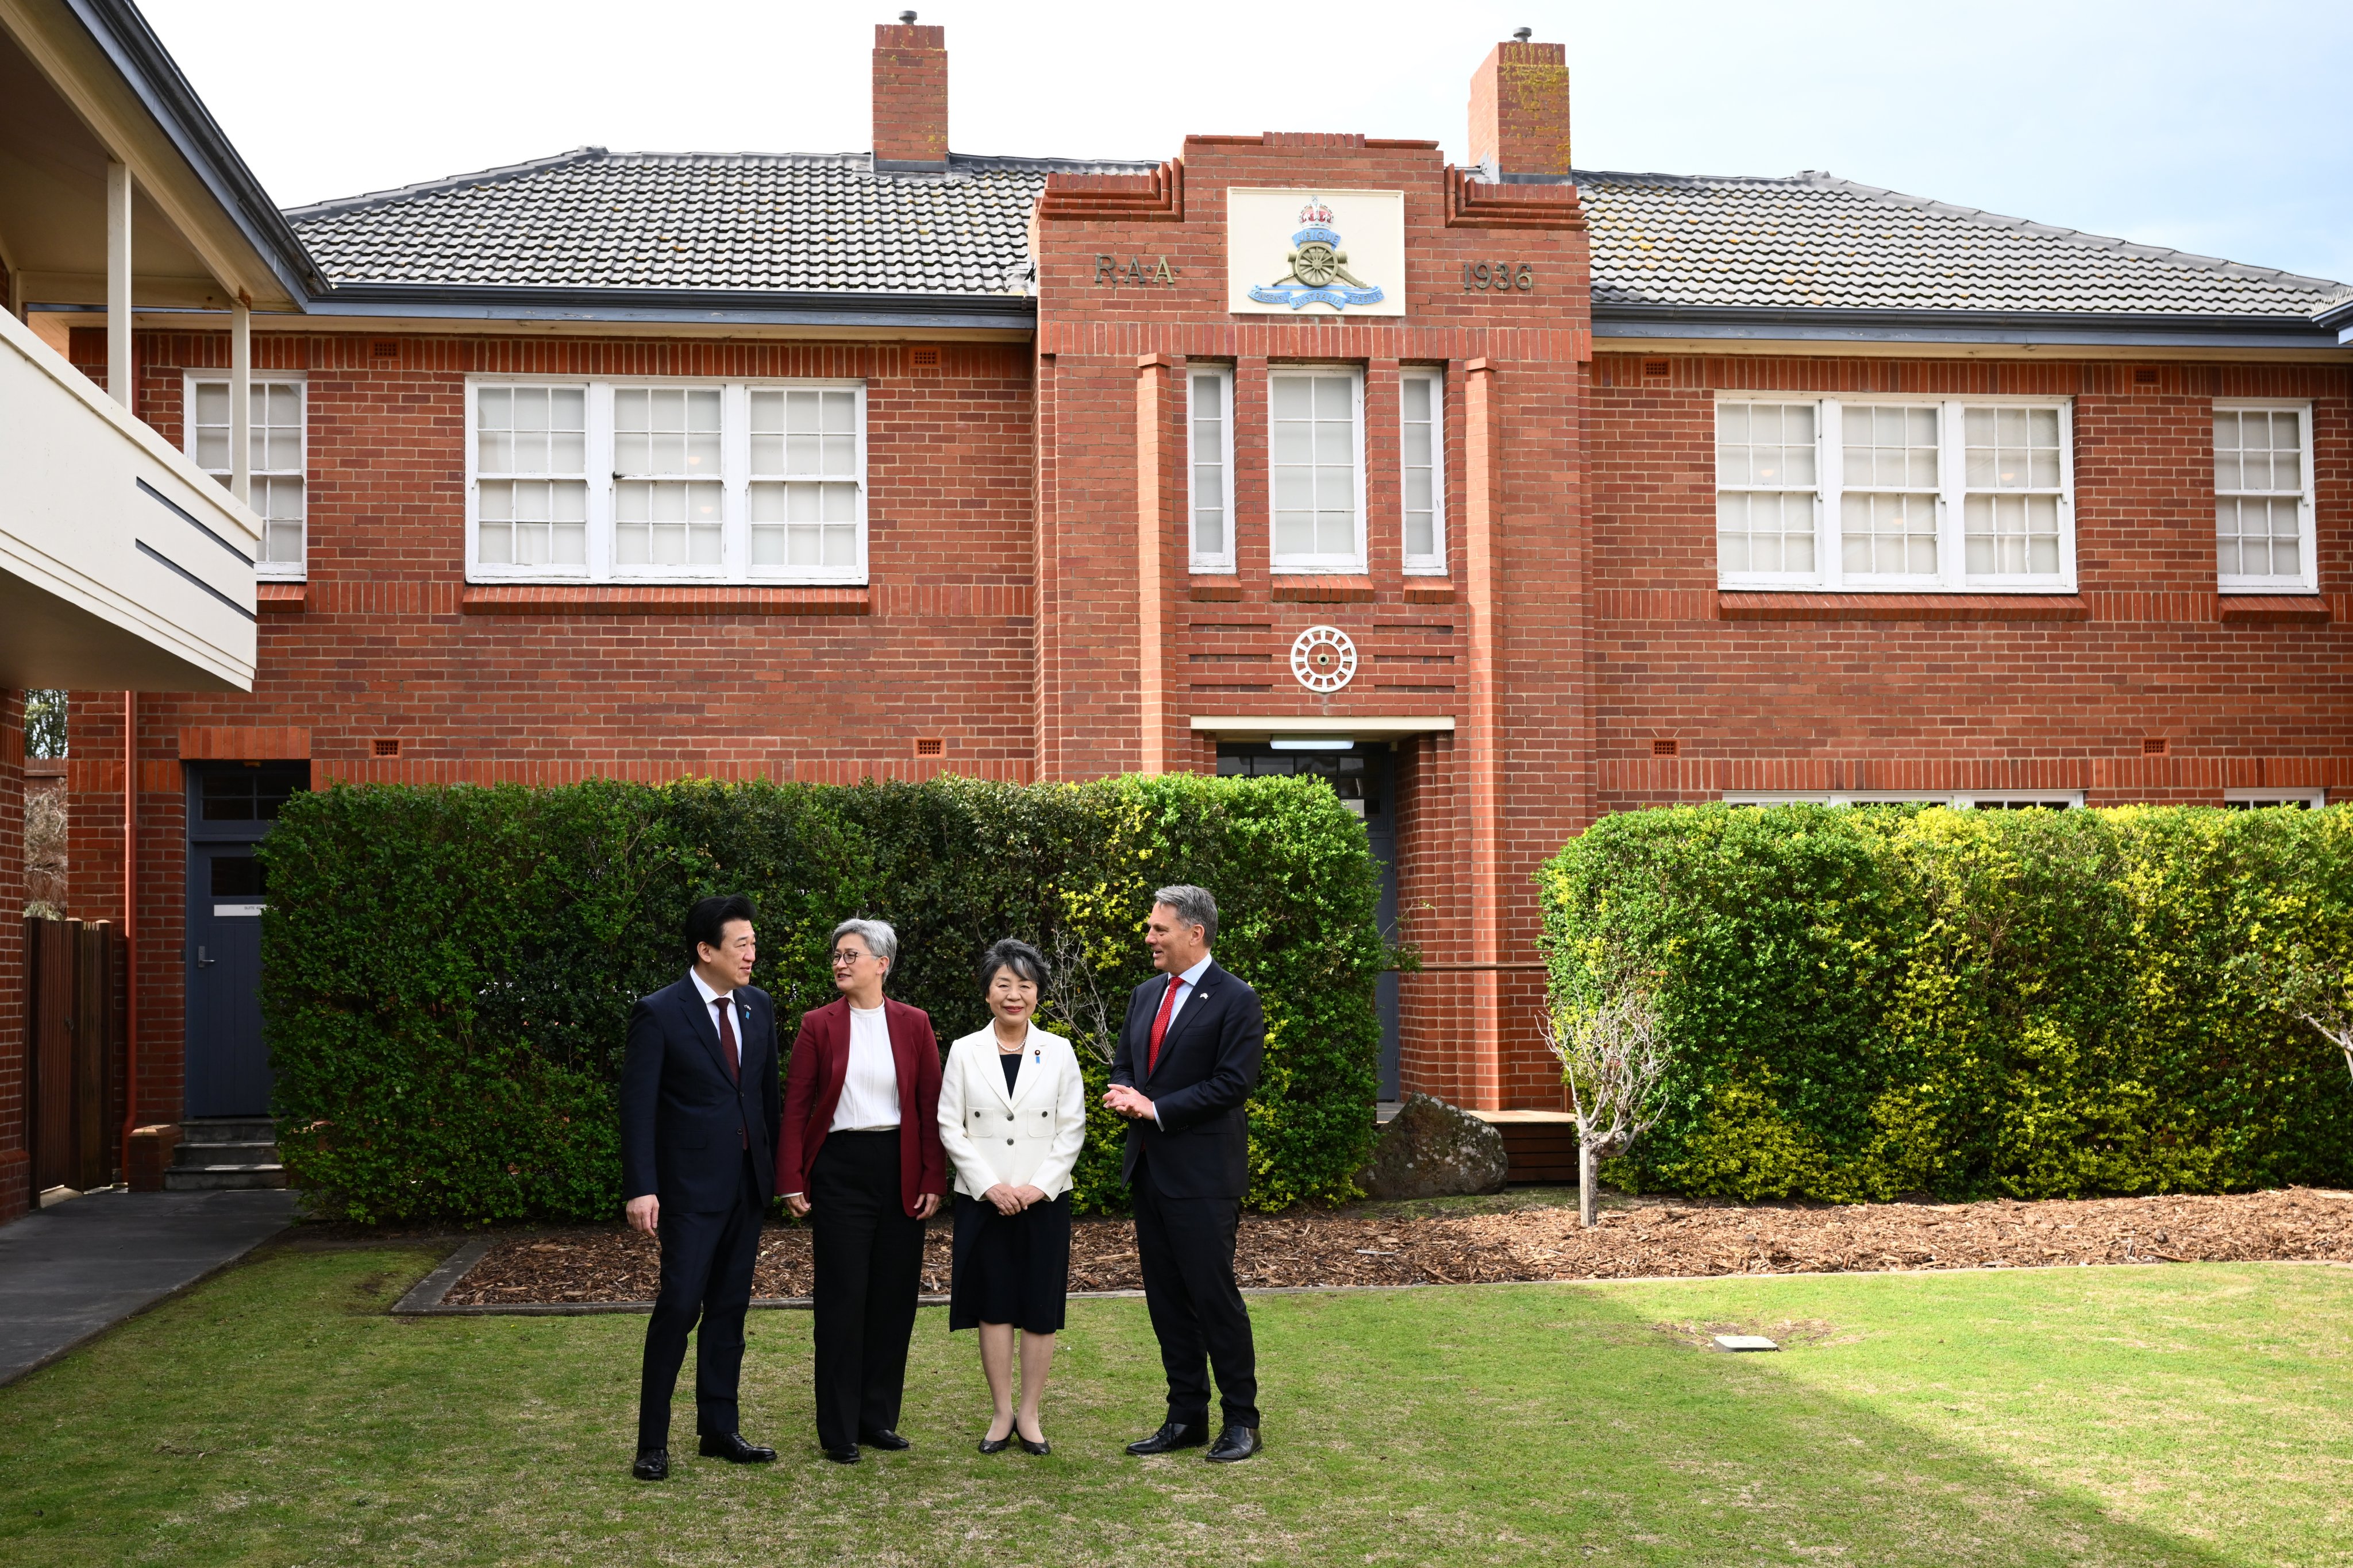
[(1111, 1058), (1111, 1081), (1144, 1093), (1160, 1112), (1127, 1124), (1120, 1175), (1136, 1180), (1151, 1164), (1153, 1187), (1172, 1199), (1240, 1199), (1249, 1192), (1249, 1093), (1266, 1060), (1266, 1011), (1259, 992), (1214, 961), (1176, 1009), (1148, 1067), (1153, 1018), (1174, 985), (1153, 976), (1127, 997), (1127, 1025)]

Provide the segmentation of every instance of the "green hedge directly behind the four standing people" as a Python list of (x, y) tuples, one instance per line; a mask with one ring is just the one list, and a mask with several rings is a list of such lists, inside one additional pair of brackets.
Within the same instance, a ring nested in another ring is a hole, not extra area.
[[(849, 914), (899, 929), (889, 990), (944, 1046), (988, 1020), (972, 969), (1000, 936), (1082, 947), (1118, 1030), (1151, 889), (1202, 884), (1219, 961), (1266, 999), (1252, 1204), (1348, 1197), (1372, 1145), (1379, 882), (1320, 780), (332, 788), (287, 804), (264, 858), (285, 1161), (353, 1220), (614, 1215), (628, 1006), (685, 973), (685, 910), (720, 891), (760, 907), (791, 1048)], [(1115, 1208), (1120, 1126), (1089, 1117), (1078, 1206)]]

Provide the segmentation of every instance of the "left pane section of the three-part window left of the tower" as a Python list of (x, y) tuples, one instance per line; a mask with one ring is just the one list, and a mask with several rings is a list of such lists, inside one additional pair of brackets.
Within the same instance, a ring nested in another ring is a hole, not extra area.
[(475, 559), (588, 569), (588, 388), (475, 388)]

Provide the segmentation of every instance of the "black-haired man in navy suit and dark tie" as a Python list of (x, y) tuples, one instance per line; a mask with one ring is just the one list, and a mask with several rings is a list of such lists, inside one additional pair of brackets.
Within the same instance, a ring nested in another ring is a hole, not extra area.
[(744, 1312), (760, 1215), (776, 1194), (776, 1009), (751, 983), (753, 907), (741, 893), (687, 912), (694, 966), (628, 1013), (621, 1063), (621, 1197), (628, 1222), (661, 1237), (661, 1291), (645, 1324), (638, 1382), (640, 1481), (671, 1474), (671, 1392), (694, 1347), (701, 1453), (767, 1465), (774, 1448), (736, 1432)]

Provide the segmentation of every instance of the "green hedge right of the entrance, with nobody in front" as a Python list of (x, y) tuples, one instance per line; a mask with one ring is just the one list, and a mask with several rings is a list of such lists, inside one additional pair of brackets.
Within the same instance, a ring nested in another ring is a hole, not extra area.
[(1673, 806), (1539, 875), (1555, 1009), (1654, 994), (1619, 1180), (1892, 1199), (2353, 1185), (2344, 1058), (2266, 997), (2353, 952), (2353, 811)]

